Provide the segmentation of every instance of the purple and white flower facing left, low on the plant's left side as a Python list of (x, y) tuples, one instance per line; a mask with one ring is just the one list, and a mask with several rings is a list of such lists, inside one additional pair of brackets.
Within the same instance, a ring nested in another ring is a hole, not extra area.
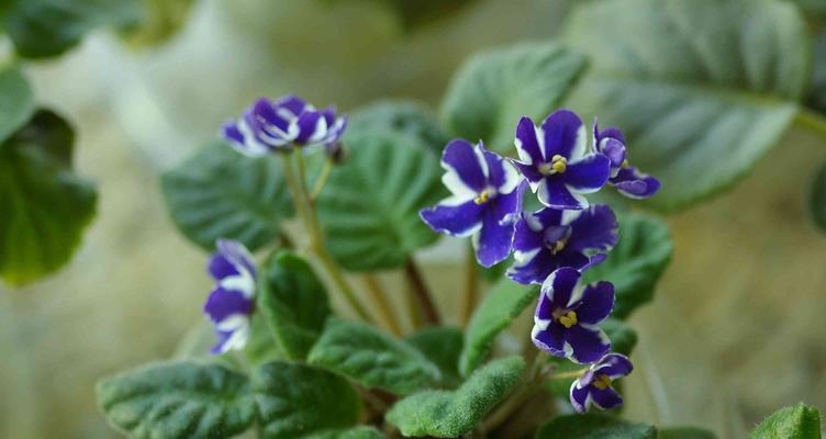
[(250, 315), (255, 308), (253, 256), (243, 244), (219, 239), (206, 270), (215, 280), (215, 288), (206, 299), (203, 311), (212, 320), (217, 344), (212, 353), (224, 353), (246, 346), (250, 331)]

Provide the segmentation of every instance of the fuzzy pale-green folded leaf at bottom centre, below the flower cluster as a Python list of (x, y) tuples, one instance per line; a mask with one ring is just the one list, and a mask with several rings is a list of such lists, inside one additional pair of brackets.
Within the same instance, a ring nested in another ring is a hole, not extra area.
[(525, 361), (510, 357), (491, 361), (456, 391), (425, 391), (398, 402), (386, 420), (403, 436), (455, 438), (470, 430), (520, 381)]

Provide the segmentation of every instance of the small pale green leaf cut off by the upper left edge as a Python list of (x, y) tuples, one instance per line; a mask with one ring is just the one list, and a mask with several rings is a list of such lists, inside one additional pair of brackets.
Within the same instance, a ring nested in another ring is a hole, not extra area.
[(34, 114), (34, 93), (20, 69), (0, 71), (0, 142), (5, 140)]

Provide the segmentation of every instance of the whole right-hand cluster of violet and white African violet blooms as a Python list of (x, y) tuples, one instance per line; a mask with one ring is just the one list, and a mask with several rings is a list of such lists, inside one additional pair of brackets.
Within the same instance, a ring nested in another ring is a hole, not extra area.
[[(438, 233), (471, 237), (484, 267), (513, 252), (507, 275), (518, 283), (542, 284), (534, 345), (590, 364), (571, 386), (573, 408), (615, 407), (622, 397), (611, 384), (633, 367), (626, 357), (611, 352), (611, 341), (599, 327), (614, 308), (614, 286), (582, 285), (580, 279), (616, 245), (617, 222), (611, 207), (590, 205), (584, 195), (610, 184), (641, 199), (657, 192), (660, 183), (628, 164), (620, 130), (600, 131), (594, 121), (589, 147), (585, 125), (568, 110), (554, 112), (540, 126), (522, 117), (514, 144), (518, 159), (488, 151), (481, 142), (450, 142), (442, 166), (451, 196), (420, 215)], [(522, 211), (526, 185), (545, 207)]]

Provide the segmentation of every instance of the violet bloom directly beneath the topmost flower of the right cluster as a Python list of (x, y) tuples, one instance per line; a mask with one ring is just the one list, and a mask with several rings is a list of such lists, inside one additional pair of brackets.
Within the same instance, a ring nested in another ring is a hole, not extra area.
[(507, 277), (518, 283), (543, 283), (560, 267), (583, 271), (601, 262), (616, 241), (616, 216), (606, 205), (584, 211), (546, 207), (523, 213), (516, 222), (515, 262)]

